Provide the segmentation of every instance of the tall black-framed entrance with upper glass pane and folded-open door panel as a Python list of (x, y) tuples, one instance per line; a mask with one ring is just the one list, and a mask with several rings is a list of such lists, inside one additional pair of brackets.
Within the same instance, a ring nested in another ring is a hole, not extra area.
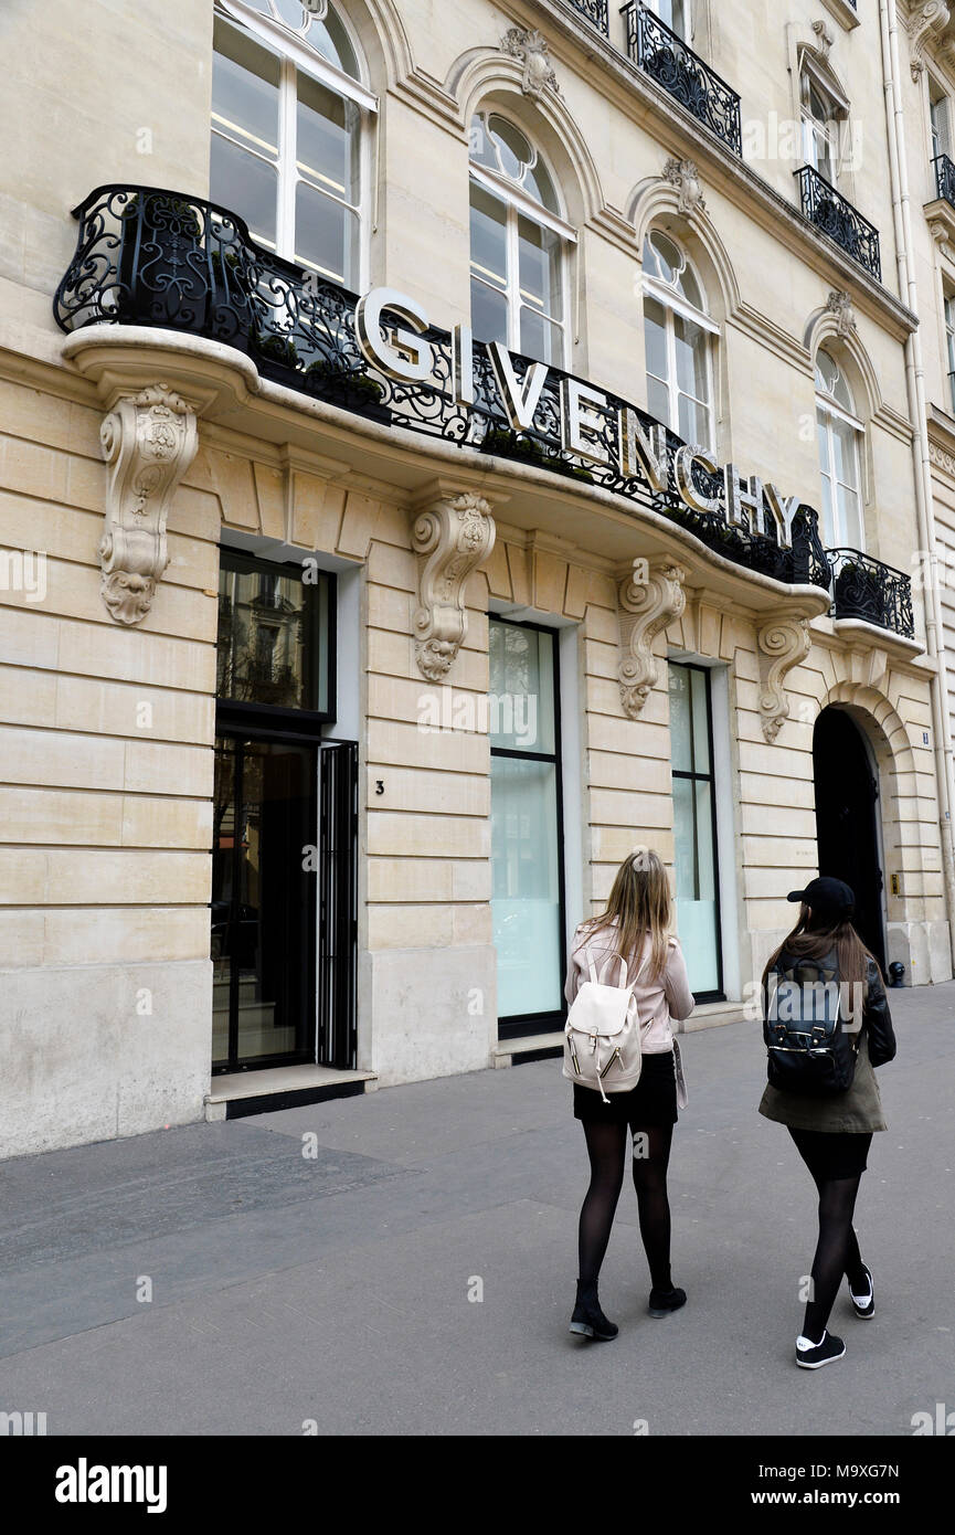
[[(342, 832), (325, 804), (333, 743), (321, 740), (335, 718), (335, 597), (330, 573), (220, 551), (213, 1074), (313, 1062), (316, 1013), (330, 985), (353, 1012), (345, 973), (353, 923), (345, 933), (342, 900), (327, 890), (330, 881), (342, 887), (350, 912), (349, 869), (338, 875), (342, 860), (332, 852), (344, 838), (353, 860), (353, 807), (344, 806)], [(356, 751), (338, 743), (342, 749)], [(355, 768), (345, 787), (356, 784)], [(330, 916), (344, 933), (332, 961)]]

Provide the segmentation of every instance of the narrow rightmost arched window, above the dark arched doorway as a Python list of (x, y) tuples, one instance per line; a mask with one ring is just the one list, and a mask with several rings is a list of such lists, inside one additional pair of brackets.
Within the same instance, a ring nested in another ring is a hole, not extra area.
[(861, 550), (863, 424), (855, 414), (844, 373), (832, 353), (823, 348), (815, 356), (815, 422), (823, 476), (823, 542), (832, 550)]

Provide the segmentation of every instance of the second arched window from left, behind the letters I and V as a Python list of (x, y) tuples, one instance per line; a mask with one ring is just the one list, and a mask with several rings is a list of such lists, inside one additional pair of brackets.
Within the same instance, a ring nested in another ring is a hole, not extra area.
[(554, 180), (522, 129), (471, 121), (471, 330), (540, 362), (567, 353), (567, 249)]

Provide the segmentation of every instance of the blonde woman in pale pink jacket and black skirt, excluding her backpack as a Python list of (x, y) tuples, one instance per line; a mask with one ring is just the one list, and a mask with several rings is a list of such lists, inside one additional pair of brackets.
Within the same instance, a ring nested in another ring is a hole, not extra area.
[(583, 1125), (590, 1188), (580, 1210), (577, 1303), (570, 1329), (590, 1339), (608, 1340), (619, 1331), (600, 1309), (597, 1280), (631, 1142), (640, 1237), (653, 1285), (649, 1314), (665, 1317), (686, 1302), (669, 1271), (666, 1168), (677, 1122), (679, 1050), (674, 1062), (671, 1022), (689, 1018), (694, 998), (671, 924), (666, 869), (656, 852), (640, 850), (623, 860), (606, 909), (577, 927), (571, 947), (563, 989), (568, 1004), (591, 976), (591, 966), (602, 982), (616, 985), (623, 959), (642, 1033), (642, 1070), (634, 1088), (605, 1099), (596, 1088), (574, 1082), (574, 1119)]

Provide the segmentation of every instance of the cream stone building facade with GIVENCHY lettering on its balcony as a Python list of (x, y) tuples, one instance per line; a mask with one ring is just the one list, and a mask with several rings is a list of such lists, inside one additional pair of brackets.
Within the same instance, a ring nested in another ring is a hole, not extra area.
[(640, 846), (694, 1027), (818, 869), (949, 979), (895, 8), (84, 11), (0, 18), (3, 1154), (551, 1050)]

